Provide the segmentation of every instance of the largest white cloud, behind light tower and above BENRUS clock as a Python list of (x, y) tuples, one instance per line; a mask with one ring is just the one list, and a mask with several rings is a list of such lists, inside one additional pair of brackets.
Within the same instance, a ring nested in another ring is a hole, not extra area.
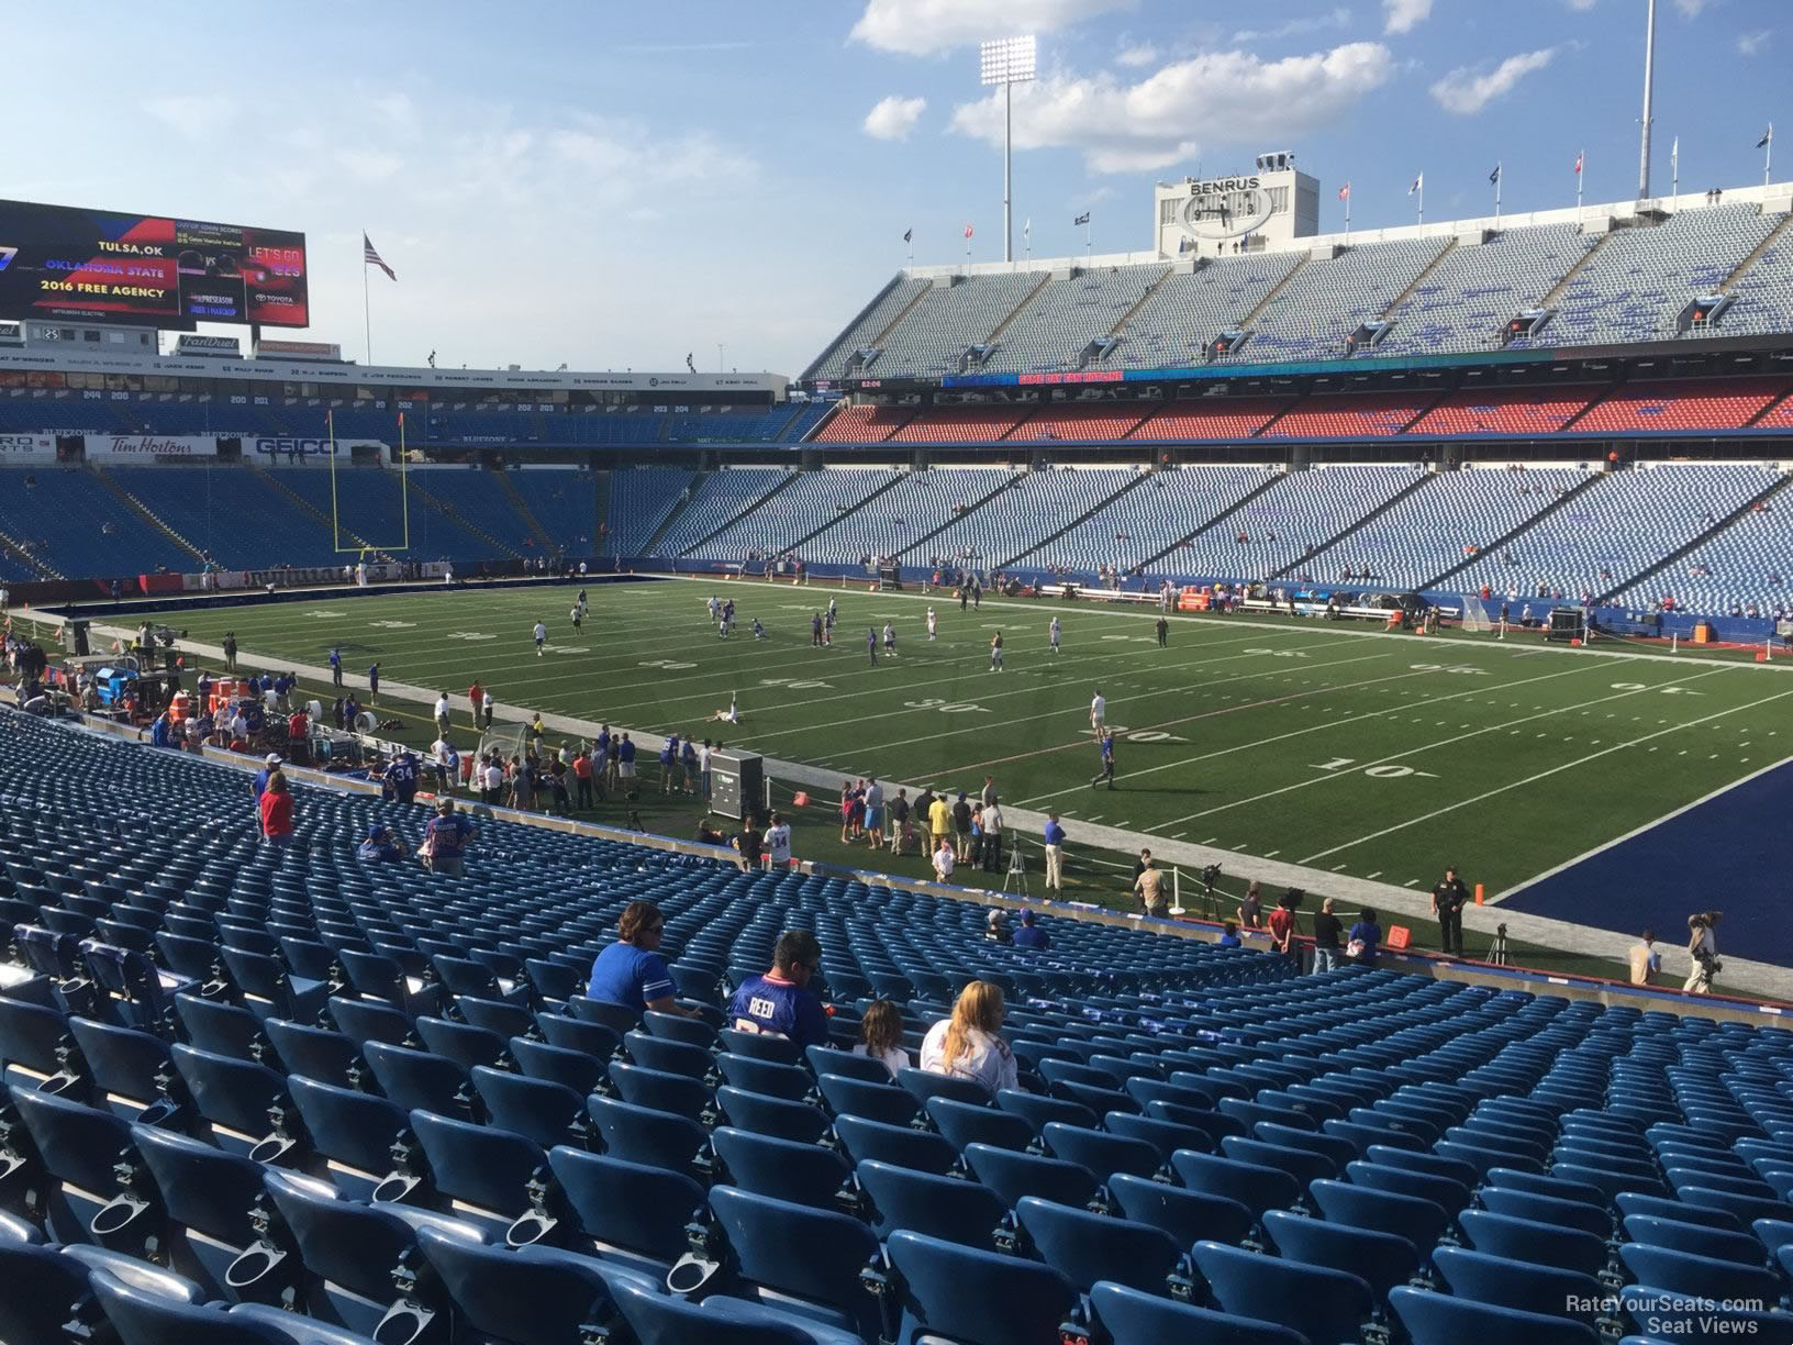
[[(1096, 172), (1146, 172), (1194, 158), (1191, 127), (1225, 127), (1228, 142), (1298, 136), (1327, 126), (1393, 74), (1393, 56), (1373, 41), (1280, 61), (1205, 52), (1139, 82), (1108, 72), (1052, 74), (1015, 88), (1015, 145), (1078, 149)], [(1000, 145), (1000, 93), (961, 104), (952, 129)]]

